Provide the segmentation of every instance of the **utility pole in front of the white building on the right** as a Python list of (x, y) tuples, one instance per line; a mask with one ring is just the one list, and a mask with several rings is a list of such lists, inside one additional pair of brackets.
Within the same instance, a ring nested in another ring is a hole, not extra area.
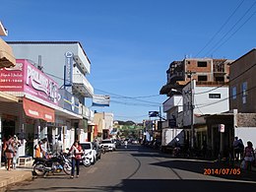
[(188, 78), (190, 78), (190, 114), (191, 114), (191, 124), (190, 124), (190, 128), (191, 128), (191, 144), (190, 147), (191, 149), (195, 148), (195, 128), (194, 128), (194, 83), (193, 83), (193, 74), (196, 74), (196, 72), (192, 72), (192, 71), (187, 71), (186, 74), (188, 75)]

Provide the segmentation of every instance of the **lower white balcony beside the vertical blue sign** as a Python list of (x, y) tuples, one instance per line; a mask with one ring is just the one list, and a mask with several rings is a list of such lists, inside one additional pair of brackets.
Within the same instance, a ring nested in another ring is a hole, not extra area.
[(93, 97), (94, 88), (89, 83), (87, 78), (82, 74), (73, 75), (73, 89), (75, 92), (79, 93), (81, 96)]

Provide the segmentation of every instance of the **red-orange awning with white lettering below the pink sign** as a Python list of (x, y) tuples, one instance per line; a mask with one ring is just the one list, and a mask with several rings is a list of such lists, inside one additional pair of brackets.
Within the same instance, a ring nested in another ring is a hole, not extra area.
[(34, 102), (26, 97), (23, 98), (25, 113), (32, 118), (43, 119), (47, 122), (55, 122), (54, 109)]

